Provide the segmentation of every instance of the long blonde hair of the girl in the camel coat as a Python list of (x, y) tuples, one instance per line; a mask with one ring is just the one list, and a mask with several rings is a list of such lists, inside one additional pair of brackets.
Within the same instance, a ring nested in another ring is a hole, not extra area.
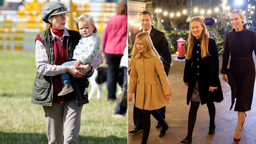
[[(136, 47), (136, 40), (138, 39), (142, 41), (142, 44), (145, 48), (144, 52), (142, 53), (139, 53)], [(158, 58), (160, 59), (160, 56), (156, 51), (156, 48), (154, 48), (153, 42), (148, 32), (140, 32), (135, 38), (135, 43), (133, 45), (132, 52), (130, 54), (131, 59), (129, 60), (129, 70), (130, 70), (130, 64), (132, 63), (134, 58), (140, 58), (140, 57), (150, 58), (151, 56), (158, 56)]]

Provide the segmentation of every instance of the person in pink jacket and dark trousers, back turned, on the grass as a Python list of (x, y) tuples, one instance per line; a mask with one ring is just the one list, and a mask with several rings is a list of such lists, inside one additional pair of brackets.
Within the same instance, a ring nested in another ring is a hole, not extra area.
[(116, 11), (117, 14), (108, 21), (102, 42), (108, 64), (108, 100), (116, 99), (117, 73), (127, 39), (127, 4), (118, 3)]

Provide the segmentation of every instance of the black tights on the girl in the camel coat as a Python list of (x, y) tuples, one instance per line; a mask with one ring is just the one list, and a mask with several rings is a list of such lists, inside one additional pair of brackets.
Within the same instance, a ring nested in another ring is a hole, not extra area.
[(163, 117), (157, 110), (142, 110), (143, 114), (143, 137), (142, 137), (142, 144), (146, 144), (148, 140), (148, 135), (150, 131), (150, 114), (162, 124), (162, 128), (166, 129), (166, 122), (164, 121)]

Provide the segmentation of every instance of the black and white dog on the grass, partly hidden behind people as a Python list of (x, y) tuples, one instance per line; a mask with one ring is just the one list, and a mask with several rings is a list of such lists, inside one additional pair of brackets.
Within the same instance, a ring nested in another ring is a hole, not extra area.
[[(118, 95), (122, 92), (124, 72), (122, 68), (118, 69)], [(89, 78), (91, 84), (91, 89), (88, 94), (88, 99), (90, 100), (94, 93), (97, 91), (97, 100), (102, 97), (102, 92), (107, 88), (107, 67), (98, 67), (94, 70), (94, 74)]]

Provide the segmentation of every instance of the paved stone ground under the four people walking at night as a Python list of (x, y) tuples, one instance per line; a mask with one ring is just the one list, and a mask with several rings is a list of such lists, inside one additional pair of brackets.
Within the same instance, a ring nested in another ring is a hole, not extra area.
[[(254, 55), (254, 54), (253, 54)], [(222, 58), (220, 66), (222, 65)], [(256, 58), (254, 55), (254, 62)], [(168, 80), (172, 89), (172, 97), (170, 104), (166, 106), (166, 122), (169, 129), (166, 135), (162, 138), (158, 137), (161, 128), (156, 128), (156, 120), (151, 116), (151, 127), (148, 138), (148, 144), (180, 144), (180, 141), (187, 135), (188, 127), (188, 112), (190, 106), (186, 104), (187, 86), (183, 83), (183, 71), (185, 60), (178, 60), (177, 56), (172, 56), (172, 65)], [(209, 129), (209, 114), (206, 104), (200, 105), (194, 132), (192, 136), (192, 144), (234, 144), (233, 136), (237, 124), (237, 112), (232, 110), (231, 91), (228, 83), (222, 80), (222, 75), (219, 75), (222, 85), (224, 100), (220, 103), (214, 103), (216, 107), (216, 132), (208, 135)], [(256, 144), (256, 86), (254, 86), (254, 98), (252, 101), (252, 109), (246, 112), (247, 117), (244, 122), (244, 128), (241, 134), (239, 144)], [(134, 100), (128, 103), (128, 130), (134, 127), (133, 123), (133, 108)], [(142, 141), (142, 133), (128, 133), (128, 144), (140, 144)]]

